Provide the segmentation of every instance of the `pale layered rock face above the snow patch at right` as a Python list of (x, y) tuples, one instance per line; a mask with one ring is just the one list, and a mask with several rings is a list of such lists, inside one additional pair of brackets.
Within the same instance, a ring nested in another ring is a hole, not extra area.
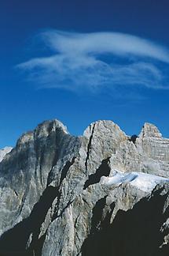
[[(131, 143), (133, 142), (133, 143)], [(169, 139), (156, 126), (145, 123), (134, 141), (124, 141), (112, 156), (112, 168), (169, 177)]]

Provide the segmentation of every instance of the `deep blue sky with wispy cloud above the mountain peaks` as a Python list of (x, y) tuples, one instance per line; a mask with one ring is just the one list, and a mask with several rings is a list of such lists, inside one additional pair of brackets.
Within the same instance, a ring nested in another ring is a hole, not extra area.
[(46, 119), (169, 137), (167, 0), (2, 1), (0, 148)]

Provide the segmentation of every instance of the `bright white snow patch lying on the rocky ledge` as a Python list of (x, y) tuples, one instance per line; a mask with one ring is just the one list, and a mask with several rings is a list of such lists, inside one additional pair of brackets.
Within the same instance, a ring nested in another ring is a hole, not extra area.
[(102, 176), (100, 183), (106, 186), (121, 185), (122, 183), (130, 183), (131, 186), (136, 186), (139, 190), (151, 192), (159, 183), (169, 183), (169, 179), (157, 175), (149, 175), (143, 172), (121, 172), (114, 171), (112, 177)]

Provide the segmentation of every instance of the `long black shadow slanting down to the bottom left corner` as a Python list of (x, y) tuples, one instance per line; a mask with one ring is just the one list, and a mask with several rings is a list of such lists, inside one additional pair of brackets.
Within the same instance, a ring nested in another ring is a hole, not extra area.
[[(32, 209), (31, 215), (2, 235), (0, 255), (41, 255), (39, 254), (39, 248), (42, 247), (42, 239), (39, 239), (40, 228), (57, 194), (56, 187), (48, 186)], [(33, 234), (31, 246), (26, 250), (31, 233)]]

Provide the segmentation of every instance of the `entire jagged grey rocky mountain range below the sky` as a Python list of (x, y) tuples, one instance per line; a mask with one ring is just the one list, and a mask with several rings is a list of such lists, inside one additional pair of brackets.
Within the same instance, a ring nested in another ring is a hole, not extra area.
[(0, 256), (168, 256), (169, 139), (59, 121), (0, 150)]

